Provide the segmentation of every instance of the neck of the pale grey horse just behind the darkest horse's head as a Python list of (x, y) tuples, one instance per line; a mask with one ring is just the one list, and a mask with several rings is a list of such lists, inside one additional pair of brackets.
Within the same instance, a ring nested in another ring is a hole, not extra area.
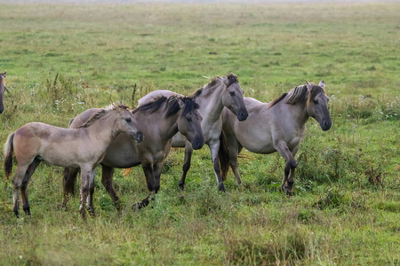
[(220, 113), (224, 106), (222, 105), (222, 92), (225, 86), (220, 83), (214, 88), (204, 89), (203, 93), (196, 97), (196, 102), (199, 104), (199, 112), (203, 116), (203, 121), (213, 123), (220, 119)]

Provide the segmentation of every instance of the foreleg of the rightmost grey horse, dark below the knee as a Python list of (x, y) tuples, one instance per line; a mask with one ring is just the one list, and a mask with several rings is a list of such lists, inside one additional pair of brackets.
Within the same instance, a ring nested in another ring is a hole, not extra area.
[(287, 192), (289, 195), (292, 195), (294, 184), (294, 169), (297, 167), (296, 160), (294, 160), (292, 152), (289, 150), (284, 141), (277, 142), (275, 148), (276, 151), (278, 151), (278, 153), (280, 153), (286, 161), (286, 164), (284, 166), (284, 179), (281, 186), (282, 191)]

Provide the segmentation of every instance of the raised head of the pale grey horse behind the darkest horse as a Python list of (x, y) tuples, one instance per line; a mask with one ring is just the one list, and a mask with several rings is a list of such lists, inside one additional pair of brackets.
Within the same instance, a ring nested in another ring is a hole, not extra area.
[(220, 82), (225, 85), (225, 90), (222, 93), (222, 105), (227, 107), (232, 113), (236, 114), (239, 121), (245, 121), (249, 116), (246, 106), (244, 105), (244, 91), (237, 80), (236, 74), (228, 74), (225, 77), (219, 77)]

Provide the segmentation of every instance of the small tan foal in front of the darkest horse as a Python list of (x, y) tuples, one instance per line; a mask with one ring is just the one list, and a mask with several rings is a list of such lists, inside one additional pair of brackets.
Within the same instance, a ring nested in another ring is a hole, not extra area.
[(4, 145), (5, 176), (12, 173), (12, 155), (18, 161), (13, 177), (13, 211), (19, 217), (19, 192), (23, 210), (30, 215), (27, 186), (30, 176), (42, 160), (55, 166), (81, 169), (81, 207), (85, 216), (85, 201), (94, 187), (94, 171), (104, 158), (111, 141), (124, 132), (125, 136), (142, 141), (138, 122), (124, 105), (111, 105), (92, 113), (88, 121), (77, 129), (62, 129), (41, 122), (30, 122), (12, 132)]

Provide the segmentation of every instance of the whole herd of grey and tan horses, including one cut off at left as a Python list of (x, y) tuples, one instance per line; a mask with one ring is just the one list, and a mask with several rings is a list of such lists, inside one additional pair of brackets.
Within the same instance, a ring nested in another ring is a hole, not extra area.
[[(3, 112), (5, 74), (0, 74), (0, 113)], [(132, 168), (141, 164), (148, 184), (148, 196), (132, 208), (146, 207), (160, 189), (163, 163), (171, 147), (184, 147), (185, 160), (180, 178), (184, 189), (193, 150), (210, 147), (214, 174), (220, 191), (232, 168), (241, 184), (237, 157), (243, 148), (252, 153), (280, 153), (285, 160), (282, 190), (293, 192), (294, 156), (305, 136), (309, 117), (328, 130), (332, 120), (324, 82), (306, 82), (271, 103), (244, 98), (236, 74), (217, 76), (192, 96), (170, 90), (155, 90), (143, 98), (134, 110), (123, 104), (92, 108), (80, 113), (68, 129), (40, 122), (30, 122), (12, 132), (4, 145), (5, 176), (12, 174), (12, 158), (18, 167), (13, 177), (13, 211), (22, 208), (30, 215), (27, 186), (42, 160), (64, 167), (64, 200), (74, 193), (80, 172), (80, 212), (94, 215), (92, 197), (95, 169), (101, 165), (101, 183), (119, 209), (113, 188), (115, 168)]]

